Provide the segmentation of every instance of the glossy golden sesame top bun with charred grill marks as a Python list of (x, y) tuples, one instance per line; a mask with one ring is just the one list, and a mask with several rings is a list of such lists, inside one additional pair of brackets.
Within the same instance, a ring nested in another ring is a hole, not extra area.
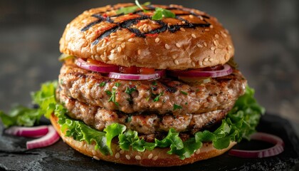
[[(213, 16), (183, 6), (150, 5), (149, 12), (116, 14), (135, 4), (117, 4), (83, 12), (65, 28), (61, 53), (118, 66), (157, 69), (205, 68), (234, 56), (229, 32)], [(154, 8), (176, 18), (152, 20)]]

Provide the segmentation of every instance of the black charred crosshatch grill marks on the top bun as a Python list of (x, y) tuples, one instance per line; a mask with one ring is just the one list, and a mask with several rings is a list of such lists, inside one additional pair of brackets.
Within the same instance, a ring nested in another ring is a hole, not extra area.
[[(155, 9), (154, 6), (147, 6), (148, 11), (153, 12), (154, 9)], [(206, 28), (206, 27), (211, 26), (211, 24), (209, 24), (209, 22), (206, 21), (206, 19), (209, 19), (209, 16), (195, 14), (195, 13), (192, 13), (191, 11), (187, 11), (185, 9), (180, 9), (180, 8), (174, 8), (174, 7), (167, 7), (166, 9), (175, 10), (174, 11), (174, 14), (176, 14), (175, 19), (179, 20), (178, 24), (169, 25), (162, 20), (157, 20), (154, 22), (159, 24), (159, 26), (160, 26), (159, 28), (153, 29), (152, 31), (145, 31), (145, 33), (142, 33), (142, 31), (140, 31), (139, 29), (130, 28), (130, 26), (133, 26), (144, 19), (150, 19), (151, 21), (153, 21), (151, 19), (152, 16), (142, 14), (142, 10), (135, 11), (132, 14), (117, 14), (114, 16), (107, 16), (107, 14), (106, 14), (107, 12), (110, 12), (112, 10), (117, 10), (117, 9), (112, 8), (111, 10), (108, 10), (108, 11), (100, 13), (100, 14), (92, 14), (91, 16), (97, 18), (98, 20), (93, 21), (90, 24), (88, 24), (87, 26), (81, 28), (80, 31), (88, 31), (89, 28), (91, 28), (101, 22), (108, 22), (110, 24), (116, 24), (116, 26), (114, 26), (112, 28), (107, 28), (107, 31), (100, 34), (100, 36), (98, 36), (98, 38), (96, 38), (95, 41), (93, 41), (92, 44), (96, 45), (99, 43), (99, 41), (101, 39), (103, 39), (107, 36), (110, 36), (111, 33), (114, 33), (115, 31), (117, 31), (119, 29), (127, 29), (128, 31), (132, 32), (135, 36), (145, 38), (147, 35), (162, 33), (164, 31), (170, 31), (171, 33), (174, 33), (176, 31), (185, 31), (184, 28), (196, 28), (196, 27)], [(181, 12), (182, 14), (178, 14), (178, 12)], [(134, 15), (134, 16), (130, 16), (130, 15)], [(191, 18), (190, 15), (192, 15), (193, 17)], [(126, 16), (129, 19), (122, 20), (122, 18), (125, 18)], [(189, 17), (189, 19), (194, 19), (194, 16), (195, 16), (195, 17), (199, 18), (201, 21), (203, 21), (204, 23), (200, 23), (200, 24), (192, 23), (192, 22), (188, 21), (187, 19), (182, 18), (182, 16), (187, 16), (187, 17)], [(112, 18), (115, 18), (115, 19), (112, 19)], [(120, 20), (120, 21), (117, 22), (117, 20)], [(105, 30), (105, 28), (104, 28), (104, 30)]]

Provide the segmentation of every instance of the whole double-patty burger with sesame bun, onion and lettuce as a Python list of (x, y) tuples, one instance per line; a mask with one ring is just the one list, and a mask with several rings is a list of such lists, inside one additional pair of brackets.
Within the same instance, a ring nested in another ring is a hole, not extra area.
[(202, 11), (90, 9), (66, 26), (60, 50), (55, 99), (39, 105), (65, 143), (97, 160), (186, 165), (223, 154), (258, 124), (229, 31)]

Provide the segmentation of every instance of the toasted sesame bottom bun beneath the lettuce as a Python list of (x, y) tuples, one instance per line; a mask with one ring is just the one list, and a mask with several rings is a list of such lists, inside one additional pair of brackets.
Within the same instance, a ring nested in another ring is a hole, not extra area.
[(231, 149), (236, 142), (231, 142), (229, 147), (223, 150), (217, 150), (213, 147), (211, 142), (204, 142), (199, 150), (196, 150), (194, 155), (184, 160), (180, 160), (177, 155), (169, 155), (167, 151), (169, 148), (159, 148), (156, 147), (154, 150), (145, 150), (144, 152), (138, 152), (133, 150), (121, 150), (119, 145), (116, 143), (111, 143), (111, 150), (113, 155), (103, 155), (100, 150), (95, 150), (95, 145), (88, 145), (85, 141), (77, 141), (70, 137), (65, 137), (64, 133), (61, 132), (61, 127), (57, 123), (58, 118), (55, 115), (51, 115), (51, 123), (53, 127), (57, 130), (59, 135), (64, 142), (66, 142), (70, 147), (73, 147), (78, 152), (95, 158), (96, 160), (105, 160), (108, 162), (117, 162), (126, 165), (141, 165), (148, 167), (167, 167), (167, 166), (177, 166), (177, 165), (187, 165), (199, 160), (206, 160), (211, 157), (216, 157), (222, 155), (227, 150)]

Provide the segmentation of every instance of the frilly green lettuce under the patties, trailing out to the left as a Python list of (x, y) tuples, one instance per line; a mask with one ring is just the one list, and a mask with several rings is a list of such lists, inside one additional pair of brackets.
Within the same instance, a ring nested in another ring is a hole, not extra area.
[(118, 144), (122, 150), (153, 150), (155, 147), (168, 147), (168, 154), (178, 155), (180, 159), (191, 157), (204, 142), (212, 142), (216, 149), (229, 147), (231, 141), (240, 142), (243, 138), (249, 139), (250, 135), (256, 131), (256, 126), (265, 109), (258, 105), (252, 88), (246, 87), (246, 93), (236, 101), (234, 108), (222, 120), (219, 128), (210, 132), (204, 130), (198, 132), (194, 137), (182, 141), (179, 133), (170, 129), (163, 140), (146, 142), (139, 138), (135, 130), (127, 129), (125, 125), (112, 123), (103, 131), (95, 130), (82, 121), (73, 120), (66, 115), (68, 111), (63, 105), (56, 102), (57, 82), (44, 83), (41, 90), (33, 93), (33, 102), (40, 108), (28, 109), (25, 107), (14, 108), (9, 115), (0, 111), (0, 118), (6, 127), (11, 125), (33, 125), (38, 122), (41, 115), (48, 118), (51, 113), (58, 117), (58, 124), (65, 136), (72, 137), (78, 141), (85, 141), (88, 144), (95, 143), (95, 150), (100, 150), (104, 155), (112, 155), (111, 142), (113, 138), (118, 138)]

